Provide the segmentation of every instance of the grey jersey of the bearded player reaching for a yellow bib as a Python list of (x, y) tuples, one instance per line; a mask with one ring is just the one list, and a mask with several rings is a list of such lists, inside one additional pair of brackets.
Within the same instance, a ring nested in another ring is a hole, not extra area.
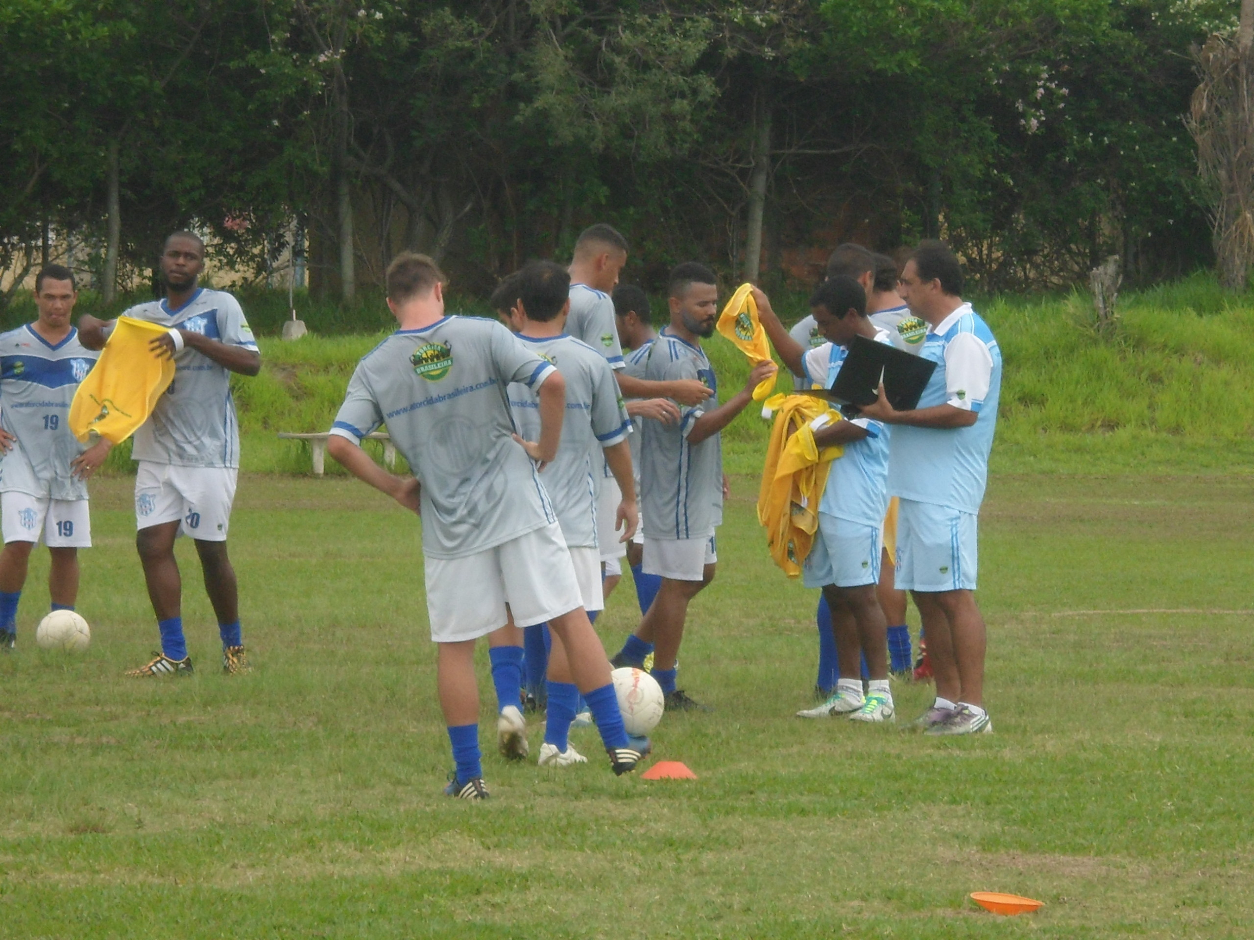
[(645, 536), (707, 539), (722, 523), (722, 441), (715, 434), (688, 444), (688, 432), (707, 409), (719, 405), (714, 368), (700, 346), (663, 330), (648, 351), (645, 379), (700, 379), (714, 392), (701, 405), (681, 406), (677, 425), (646, 420), (641, 441)]

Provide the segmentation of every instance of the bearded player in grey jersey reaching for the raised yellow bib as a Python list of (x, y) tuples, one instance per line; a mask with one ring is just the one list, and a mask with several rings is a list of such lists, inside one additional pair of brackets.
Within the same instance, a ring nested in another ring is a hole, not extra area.
[[(775, 363), (755, 366), (745, 387), (717, 405), (717, 381), (701, 348), (701, 338), (714, 335), (719, 318), (714, 272), (705, 264), (680, 264), (671, 272), (668, 302), (671, 323), (650, 348), (645, 377), (657, 382), (697, 380), (714, 395), (710, 405), (682, 409), (676, 426), (645, 421), (643, 568), (646, 574), (660, 575), (662, 587), (635, 635), (655, 644), (652, 672), (666, 693), (666, 707), (687, 709), (700, 706), (676, 689), (675, 662), (688, 603), (715, 574), (714, 533), (722, 521), (724, 496), (719, 434), (752, 401), (754, 389), (774, 373)], [(624, 657), (626, 650), (618, 655)]]

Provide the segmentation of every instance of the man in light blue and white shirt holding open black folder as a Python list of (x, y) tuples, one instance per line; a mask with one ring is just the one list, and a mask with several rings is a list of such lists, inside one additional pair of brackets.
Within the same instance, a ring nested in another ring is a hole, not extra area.
[(962, 267), (940, 242), (923, 242), (898, 288), (928, 325), (919, 355), (937, 363), (918, 407), (895, 411), (880, 390), (863, 415), (894, 429), (888, 491), (900, 498), (897, 587), (923, 617), (937, 699), (919, 718), (929, 734), (991, 732), (983, 707), (984, 620), (976, 604), (976, 520), (997, 426), (1002, 353), (962, 300)]

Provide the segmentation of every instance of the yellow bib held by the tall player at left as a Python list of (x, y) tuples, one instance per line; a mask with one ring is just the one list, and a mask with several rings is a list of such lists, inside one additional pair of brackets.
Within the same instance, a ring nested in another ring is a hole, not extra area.
[(148, 348), (163, 326), (118, 317), (95, 368), (87, 373), (70, 404), (70, 431), (85, 441), (95, 431), (113, 444), (127, 440), (148, 420), (157, 399), (174, 379), (174, 360)]

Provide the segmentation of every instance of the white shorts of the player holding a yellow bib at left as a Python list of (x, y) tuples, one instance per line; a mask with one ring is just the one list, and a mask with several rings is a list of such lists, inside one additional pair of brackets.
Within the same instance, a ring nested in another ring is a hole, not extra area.
[(176, 466), (140, 460), (135, 473), (135, 529), (182, 523), (179, 533), (201, 541), (226, 541), (238, 470)]

